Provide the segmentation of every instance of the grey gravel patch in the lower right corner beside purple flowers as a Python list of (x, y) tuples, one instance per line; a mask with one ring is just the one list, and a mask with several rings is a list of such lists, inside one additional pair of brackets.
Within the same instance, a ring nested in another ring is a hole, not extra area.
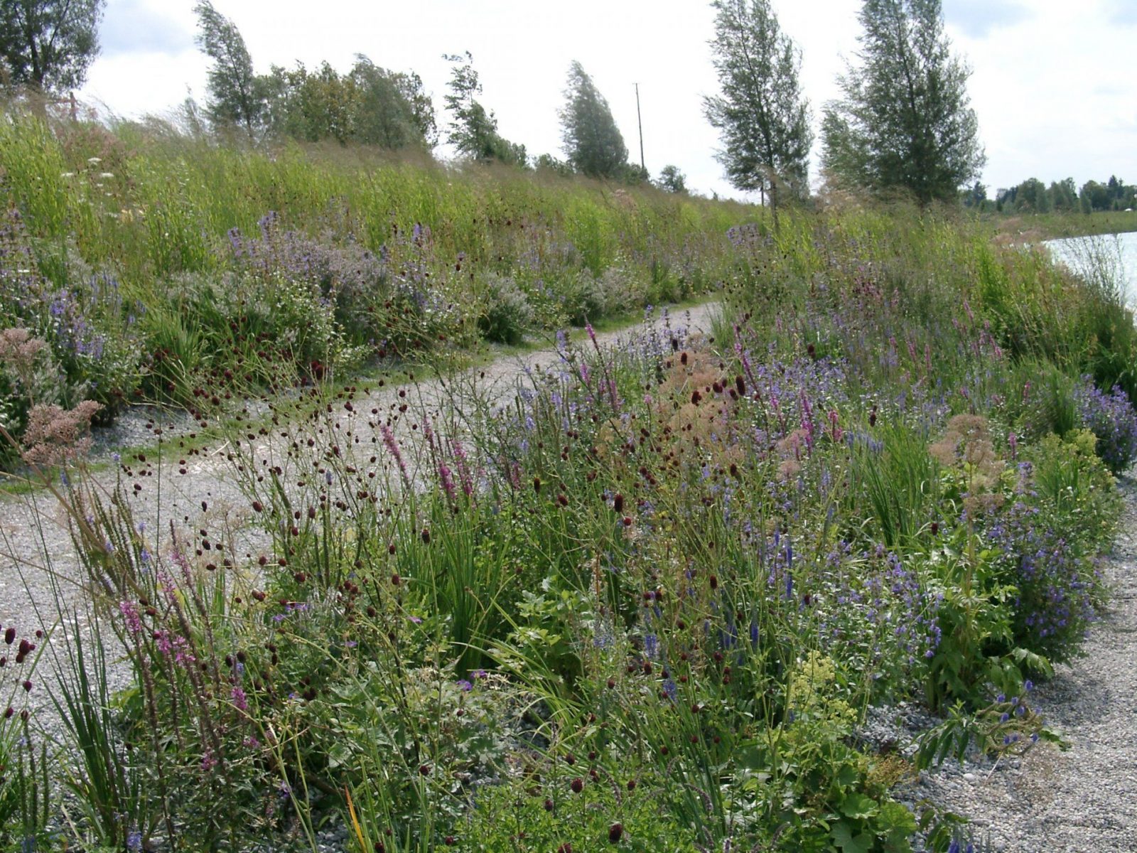
[(1137, 851), (1137, 471), (1119, 481), (1126, 510), (1106, 569), (1113, 597), (1086, 656), (1039, 686), (1032, 707), (1068, 752), (945, 764), (918, 794), (970, 818), (995, 851)]

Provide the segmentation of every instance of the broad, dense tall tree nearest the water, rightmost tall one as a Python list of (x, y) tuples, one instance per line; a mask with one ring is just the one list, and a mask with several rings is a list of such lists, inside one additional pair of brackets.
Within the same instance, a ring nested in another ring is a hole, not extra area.
[(822, 122), (823, 164), (840, 182), (921, 204), (954, 199), (986, 157), (969, 106), (970, 71), (944, 35), (940, 0), (864, 0), (861, 67)]

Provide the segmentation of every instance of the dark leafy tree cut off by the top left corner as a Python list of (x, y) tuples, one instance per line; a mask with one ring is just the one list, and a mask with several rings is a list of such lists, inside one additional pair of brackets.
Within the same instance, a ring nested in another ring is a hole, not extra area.
[(13, 83), (44, 92), (83, 84), (99, 52), (106, 0), (3, 0), (0, 58)]

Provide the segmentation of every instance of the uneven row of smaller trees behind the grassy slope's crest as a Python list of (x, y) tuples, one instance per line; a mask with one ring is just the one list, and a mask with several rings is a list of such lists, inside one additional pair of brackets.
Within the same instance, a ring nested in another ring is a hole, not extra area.
[[(209, 0), (200, 0), (194, 11), (198, 44), (213, 60), (206, 115), (216, 129), (234, 129), (252, 140), (333, 140), (391, 150), (429, 151), (441, 140), (434, 103), (417, 74), (382, 68), (359, 55), (346, 74), (323, 63), (312, 71), (302, 64), (272, 66), (258, 75), (236, 25)], [(640, 166), (628, 163), (608, 102), (580, 63), (568, 68), (559, 113), (566, 159), (541, 155), (531, 162), (525, 146), (499, 133), (497, 116), (482, 103), (473, 56), (445, 58), (451, 63), (442, 98), (450, 116), (445, 139), (459, 156), (629, 183), (648, 180)], [(682, 173), (669, 168), (661, 187), (683, 191)]]

